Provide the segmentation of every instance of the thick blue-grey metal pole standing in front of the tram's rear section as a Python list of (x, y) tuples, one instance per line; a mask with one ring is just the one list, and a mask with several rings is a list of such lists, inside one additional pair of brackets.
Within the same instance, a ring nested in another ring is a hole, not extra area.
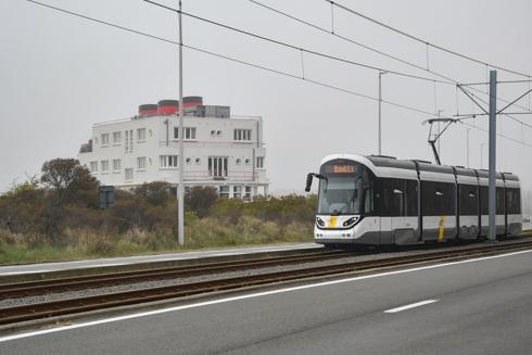
[(495, 164), (497, 148), (497, 72), (490, 71), (490, 234), (489, 240), (494, 241), (495, 232)]

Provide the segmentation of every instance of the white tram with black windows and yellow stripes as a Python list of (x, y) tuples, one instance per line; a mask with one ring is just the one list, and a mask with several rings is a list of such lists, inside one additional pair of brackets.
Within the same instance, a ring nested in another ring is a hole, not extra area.
[[(390, 156), (321, 161), (314, 239), (320, 244), (415, 244), (482, 239), (489, 232), (487, 170)], [(519, 178), (496, 174), (496, 233), (521, 232)]]

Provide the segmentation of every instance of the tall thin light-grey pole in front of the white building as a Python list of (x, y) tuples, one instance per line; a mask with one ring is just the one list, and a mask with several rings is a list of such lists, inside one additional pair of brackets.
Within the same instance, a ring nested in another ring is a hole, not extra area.
[(183, 104), (182, 104), (182, 22), (181, 22), (181, 0), (179, 0), (179, 168), (177, 179), (177, 241), (180, 245), (185, 244), (185, 201), (183, 201), (183, 140), (182, 129)]

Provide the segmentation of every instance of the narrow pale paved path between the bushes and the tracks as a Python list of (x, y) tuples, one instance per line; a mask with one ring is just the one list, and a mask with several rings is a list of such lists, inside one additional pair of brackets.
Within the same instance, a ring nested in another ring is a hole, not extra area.
[(183, 253), (172, 253), (172, 254), (155, 254), (155, 255), (140, 255), (140, 256), (127, 256), (127, 257), (97, 258), (97, 259), (74, 261), (74, 262), (0, 266), (0, 277), (2, 275), (48, 272), (48, 271), (58, 271), (58, 270), (80, 269), (80, 268), (88, 268), (88, 267), (130, 265), (130, 264), (163, 262), (163, 261), (183, 261), (183, 259), (192, 259), (192, 258), (203, 258), (208, 256), (241, 255), (241, 254), (254, 254), (261, 252), (316, 249), (316, 248), (320, 248), (320, 245), (316, 243), (286, 243), (286, 244), (263, 245), (263, 246), (216, 249), (216, 250), (205, 250), (199, 252), (183, 252)]

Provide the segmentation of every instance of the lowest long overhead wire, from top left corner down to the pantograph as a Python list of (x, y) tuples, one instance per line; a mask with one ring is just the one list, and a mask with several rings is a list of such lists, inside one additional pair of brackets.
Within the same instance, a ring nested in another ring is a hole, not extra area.
[[(132, 28), (129, 28), (129, 27), (116, 25), (116, 24), (113, 24), (113, 23), (107, 22), (107, 21), (99, 20), (99, 18), (91, 17), (91, 16), (87, 16), (85, 14), (80, 14), (80, 13), (77, 13), (77, 12), (68, 11), (68, 10), (61, 9), (61, 8), (58, 8), (58, 7), (53, 7), (53, 5), (50, 5), (50, 4), (47, 4), (47, 3), (42, 3), (42, 2), (39, 2), (39, 1), (35, 1), (35, 0), (27, 0), (27, 1), (30, 2), (30, 3), (40, 5), (40, 7), (45, 7), (45, 8), (54, 10), (54, 11), (59, 11), (59, 12), (62, 12), (62, 13), (65, 13), (65, 14), (72, 15), (72, 16), (80, 17), (80, 18), (84, 18), (84, 20), (87, 20), (87, 21), (91, 21), (91, 22), (94, 22), (94, 23), (98, 23), (98, 24), (102, 24), (102, 25), (106, 25), (106, 26), (110, 26), (110, 27), (114, 27), (116, 29), (128, 31), (128, 33), (131, 33), (131, 34), (135, 34), (135, 35), (143, 36), (143, 37), (147, 37), (147, 38), (150, 38), (150, 39), (159, 40), (159, 41), (162, 41), (162, 42), (165, 42), (165, 43), (170, 43), (170, 45), (174, 45), (174, 46), (179, 46), (179, 42), (178, 41), (175, 41), (175, 40), (172, 40), (172, 39), (163, 38), (163, 37), (160, 37), (160, 36), (154, 36), (154, 35), (151, 35), (151, 34), (141, 31), (141, 30), (137, 30), (137, 29), (132, 29)], [(220, 59), (225, 59), (225, 60), (228, 60), (228, 61), (231, 61), (231, 62), (240, 63), (242, 65), (246, 65), (246, 66), (250, 66), (250, 67), (255, 67), (255, 68), (259, 68), (259, 69), (267, 71), (267, 72), (270, 72), (270, 73), (275, 73), (275, 74), (278, 74), (278, 75), (291, 77), (291, 78), (294, 78), (294, 79), (304, 80), (304, 81), (307, 81), (307, 83), (311, 83), (311, 84), (314, 84), (314, 85), (317, 85), (317, 86), (326, 87), (326, 88), (329, 88), (329, 89), (332, 89), (332, 90), (337, 90), (337, 91), (340, 91), (340, 92), (344, 92), (344, 93), (357, 96), (357, 97), (365, 98), (365, 99), (372, 100), (372, 101), (379, 101), (378, 98), (373, 98), (373, 97), (370, 97), (370, 96), (367, 96), (367, 94), (363, 94), (363, 93), (359, 93), (359, 92), (355, 92), (355, 91), (352, 91), (352, 90), (343, 89), (343, 88), (340, 88), (340, 87), (337, 87), (337, 86), (333, 86), (333, 85), (330, 85), (330, 84), (327, 84), (327, 83), (312, 80), (312, 79), (308, 79), (308, 78), (302, 78), (302, 77), (300, 77), (297, 75), (293, 75), (293, 74), (290, 74), (290, 73), (277, 71), (277, 69), (274, 69), (274, 68), (269, 68), (269, 67), (266, 67), (266, 66), (263, 66), (263, 65), (258, 65), (258, 64), (245, 62), (245, 61), (242, 61), (242, 60), (239, 60), (239, 59), (235, 59), (235, 58), (230, 58), (230, 56), (227, 56), (227, 55), (224, 55), (224, 54), (211, 52), (211, 51), (203, 50), (203, 49), (200, 49), (200, 48), (197, 48), (197, 47), (192, 47), (192, 46), (189, 46), (189, 45), (185, 45), (185, 43), (182, 43), (182, 47), (183, 48), (191, 49), (191, 50), (194, 50), (194, 51), (198, 51), (198, 52), (202, 52), (202, 53), (205, 53), (205, 54), (210, 54), (210, 55), (213, 55), (213, 56), (217, 56), (217, 58), (220, 58)], [(385, 104), (389, 104), (389, 105), (393, 105), (393, 106), (396, 106), (396, 107), (401, 107), (401, 109), (409, 110), (409, 111), (413, 111), (413, 112), (426, 114), (426, 115), (429, 115), (429, 116), (433, 116), (434, 115), (432, 112), (428, 112), (428, 111), (425, 111), (425, 110), (421, 110), (421, 109), (416, 109), (416, 107), (407, 106), (407, 105), (395, 103), (395, 102), (392, 102), (392, 101), (382, 100), (382, 102), (385, 103)], [(466, 117), (466, 118), (468, 118), (468, 117)], [(466, 118), (459, 118), (457, 121), (461, 122), (461, 119), (466, 119)], [(472, 128), (478, 128), (478, 129), (481, 129), (481, 130), (486, 131), (485, 129), (482, 129), (480, 127), (471, 126), (471, 125), (469, 125), (467, 123), (464, 123), (464, 124), (466, 124), (466, 125), (468, 125), (468, 126), (470, 126)], [(532, 145), (530, 145), (528, 143), (520, 142), (518, 140), (515, 140), (515, 139), (509, 138), (509, 137), (506, 137), (506, 136), (501, 136), (501, 137), (503, 137), (505, 139), (508, 139), (510, 141), (520, 143), (520, 144), (525, 145), (525, 147), (532, 147)]]

